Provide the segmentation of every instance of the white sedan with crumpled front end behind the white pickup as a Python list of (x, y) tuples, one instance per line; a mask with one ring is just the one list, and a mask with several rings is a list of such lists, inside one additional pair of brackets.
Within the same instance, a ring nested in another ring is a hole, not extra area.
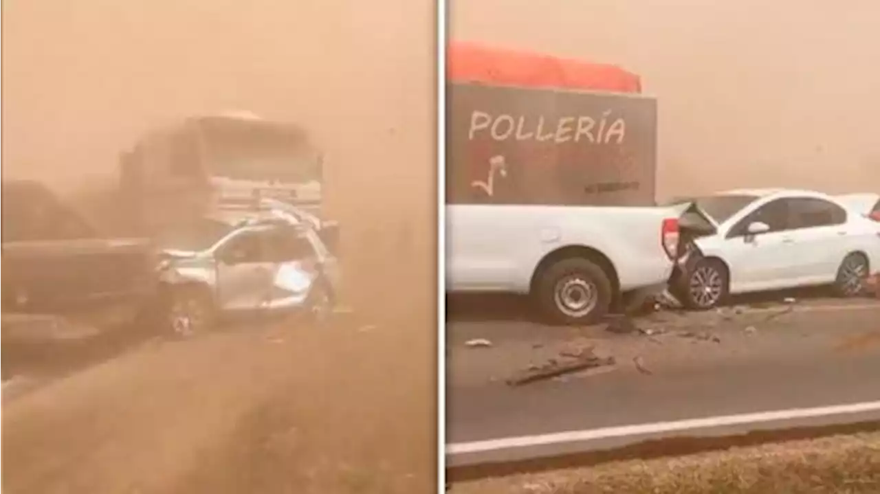
[(876, 222), (824, 193), (752, 189), (691, 199), (704, 225), (679, 262), (671, 291), (709, 309), (729, 294), (831, 285), (862, 292), (880, 267)]

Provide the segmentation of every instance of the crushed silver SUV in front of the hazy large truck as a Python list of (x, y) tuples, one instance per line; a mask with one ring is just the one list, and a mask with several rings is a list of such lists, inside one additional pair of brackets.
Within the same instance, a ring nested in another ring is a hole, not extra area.
[(337, 259), (314, 229), (289, 217), (221, 211), (169, 229), (157, 242), (157, 313), (179, 336), (233, 316), (324, 316), (334, 305)]

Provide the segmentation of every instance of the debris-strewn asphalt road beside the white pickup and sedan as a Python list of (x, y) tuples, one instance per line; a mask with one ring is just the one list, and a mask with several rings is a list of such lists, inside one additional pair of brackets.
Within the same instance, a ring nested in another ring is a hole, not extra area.
[[(840, 309), (845, 305), (854, 309)], [(516, 311), (513, 314), (502, 322), (452, 316), (448, 326), (451, 352), (474, 352), (461, 345), (468, 338), (490, 339), (495, 352), (524, 342), (549, 345), (554, 339), (570, 338), (567, 331), (525, 322)], [(630, 366), (521, 387), (510, 387), (503, 380), (458, 376), (450, 380), (447, 392), (447, 445), (451, 445), (447, 460), (452, 466), (467, 465), (628, 446), (682, 433), (726, 435), (760, 428), (880, 420), (880, 406), (839, 414), (826, 410), (828, 413), (810, 418), (790, 418), (792, 414), (782, 413), (775, 419), (761, 418), (760, 424), (730, 425), (717, 419), (880, 402), (878, 322), (880, 304), (808, 301), (795, 307), (793, 314), (773, 321), (765, 317), (759, 334), (746, 337), (730, 333), (741, 329), (709, 327), (712, 334), (721, 336), (722, 343), (689, 345), (687, 358), (661, 358), (663, 352), (672, 352), (671, 345), (655, 345), (656, 355), (649, 356), (649, 362), (657, 362), (650, 368), (651, 374)], [(595, 341), (597, 335), (592, 336)], [(620, 341), (623, 337), (605, 331), (598, 338)], [(739, 345), (737, 338), (752, 343)], [(737, 346), (736, 351), (723, 352), (728, 340)], [(489, 353), (485, 355), (489, 360)], [(663, 430), (671, 422), (700, 418), (709, 419), (703, 427)], [(608, 429), (630, 425), (649, 426), (631, 432)]]

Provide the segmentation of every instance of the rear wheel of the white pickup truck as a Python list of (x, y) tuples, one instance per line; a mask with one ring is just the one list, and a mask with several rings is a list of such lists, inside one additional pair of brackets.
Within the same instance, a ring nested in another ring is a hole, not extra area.
[(611, 307), (612, 285), (598, 265), (568, 258), (539, 274), (533, 296), (551, 323), (591, 324)]

